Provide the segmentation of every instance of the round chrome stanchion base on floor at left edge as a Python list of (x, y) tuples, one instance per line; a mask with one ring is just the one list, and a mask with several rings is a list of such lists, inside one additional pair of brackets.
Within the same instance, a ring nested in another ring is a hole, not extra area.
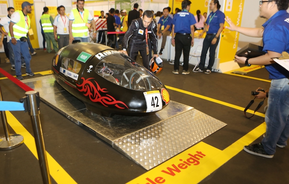
[(0, 150), (16, 148), (23, 142), (24, 138), (19, 134), (10, 134), (10, 140), (6, 140), (5, 136), (2, 136), (0, 137)]

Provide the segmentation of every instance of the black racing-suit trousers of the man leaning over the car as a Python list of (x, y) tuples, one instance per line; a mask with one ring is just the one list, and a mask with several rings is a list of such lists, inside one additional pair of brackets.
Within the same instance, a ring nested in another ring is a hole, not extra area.
[[(148, 40), (149, 41), (149, 40)], [(127, 47), (127, 55), (131, 57), (131, 59), (136, 61), (136, 57), (138, 56), (138, 51), (142, 56), (142, 63), (145, 68), (150, 70), (149, 68), (149, 55), (147, 55), (147, 43), (145, 40), (129, 40), (129, 46)]]

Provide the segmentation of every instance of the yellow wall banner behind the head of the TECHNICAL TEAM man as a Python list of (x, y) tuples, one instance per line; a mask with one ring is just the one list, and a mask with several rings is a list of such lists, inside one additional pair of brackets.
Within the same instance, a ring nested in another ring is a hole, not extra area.
[[(175, 13), (175, 9), (176, 8), (181, 9), (181, 2), (182, 1), (183, 0), (169, 0), (168, 6), (172, 8), (171, 12)], [(201, 14), (203, 15), (203, 13), (208, 11), (208, 5), (209, 5), (209, 1), (208, 0), (194, 1), (191, 4), (190, 13), (196, 15), (197, 10), (200, 10)]]

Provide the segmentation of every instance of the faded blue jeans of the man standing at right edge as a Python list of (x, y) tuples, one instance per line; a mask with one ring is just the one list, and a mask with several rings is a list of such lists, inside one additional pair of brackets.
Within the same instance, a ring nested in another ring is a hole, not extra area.
[(266, 136), (262, 140), (264, 150), (273, 155), (276, 144), (287, 145), (289, 137), (289, 79), (271, 81), (268, 109), (265, 114)]

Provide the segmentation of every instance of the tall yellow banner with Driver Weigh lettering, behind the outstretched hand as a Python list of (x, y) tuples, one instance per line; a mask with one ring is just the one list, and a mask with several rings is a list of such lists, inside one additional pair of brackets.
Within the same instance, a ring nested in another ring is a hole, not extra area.
[[(229, 16), (234, 24), (241, 26), (243, 8), (244, 0), (226, 0), (224, 14)], [(229, 26), (227, 22), (225, 22), (224, 27), (226, 26)], [(219, 50), (220, 63), (234, 59), (238, 48), (239, 34), (229, 29), (223, 30)]]

